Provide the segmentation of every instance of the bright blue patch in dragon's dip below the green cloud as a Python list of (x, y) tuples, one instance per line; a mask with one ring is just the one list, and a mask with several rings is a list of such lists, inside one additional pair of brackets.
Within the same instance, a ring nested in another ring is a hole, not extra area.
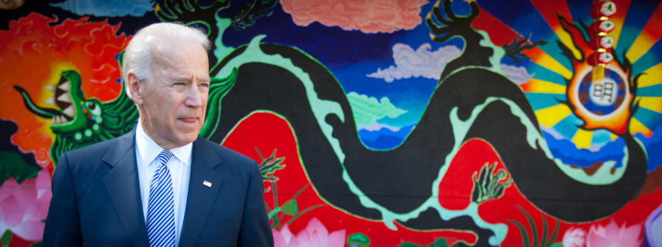
[(361, 129), (359, 131), (359, 137), (366, 147), (378, 150), (388, 150), (401, 144), (413, 128), (414, 125), (409, 125), (401, 128), (397, 132), (385, 128), (380, 129), (379, 131)]

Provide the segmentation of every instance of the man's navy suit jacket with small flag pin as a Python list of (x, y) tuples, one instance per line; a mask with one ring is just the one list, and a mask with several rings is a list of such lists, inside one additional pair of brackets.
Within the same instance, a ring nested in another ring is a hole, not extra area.
[[(149, 246), (134, 140), (135, 129), (61, 155), (43, 246)], [(193, 142), (179, 246), (273, 246), (257, 163)]]

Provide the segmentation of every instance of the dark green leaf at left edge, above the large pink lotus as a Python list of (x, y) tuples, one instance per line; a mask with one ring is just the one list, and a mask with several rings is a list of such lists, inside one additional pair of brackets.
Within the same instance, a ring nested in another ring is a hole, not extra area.
[(30, 165), (21, 154), (13, 151), (0, 151), (0, 184), (14, 178), (19, 184), (28, 178), (37, 177), (40, 167)]

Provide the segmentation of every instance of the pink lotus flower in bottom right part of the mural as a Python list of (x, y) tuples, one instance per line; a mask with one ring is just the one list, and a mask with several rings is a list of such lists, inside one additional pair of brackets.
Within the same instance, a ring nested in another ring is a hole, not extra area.
[(626, 228), (625, 223), (619, 226), (614, 219), (607, 226), (594, 224), (586, 235), (586, 246), (641, 246), (642, 239), (639, 238), (641, 230), (641, 224), (634, 224)]

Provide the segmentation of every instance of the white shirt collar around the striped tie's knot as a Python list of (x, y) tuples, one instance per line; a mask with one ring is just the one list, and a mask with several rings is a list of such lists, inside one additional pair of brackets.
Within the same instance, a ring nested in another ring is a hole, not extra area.
[[(190, 142), (182, 147), (170, 149), (170, 152), (172, 152), (174, 157), (184, 165), (190, 166), (192, 149), (193, 142)], [(138, 158), (141, 160), (139, 164), (143, 168), (152, 163), (152, 160), (156, 159), (159, 153), (163, 151), (163, 148), (160, 147), (157, 142), (154, 142), (152, 138), (147, 136), (147, 133), (143, 130), (140, 119), (138, 120), (136, 127), (136, 151), (138, 153)]]

